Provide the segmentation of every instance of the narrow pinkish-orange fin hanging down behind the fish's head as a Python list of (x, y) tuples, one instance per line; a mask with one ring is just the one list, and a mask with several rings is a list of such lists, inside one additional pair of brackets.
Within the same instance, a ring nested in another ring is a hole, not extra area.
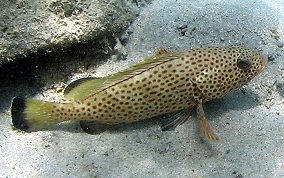
[(201, 133), (208, 139), (219, 140), (218, 136), (214, 133), (209, 122), (205, 118), (205, 113), (202, 106), (202, 99), (198, 100), (197, 103), (197, 122)]

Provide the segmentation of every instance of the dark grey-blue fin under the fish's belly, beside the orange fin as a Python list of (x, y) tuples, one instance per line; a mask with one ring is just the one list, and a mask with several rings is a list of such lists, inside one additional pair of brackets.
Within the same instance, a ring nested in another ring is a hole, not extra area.
[(161, 123), (162, 131), (174, 130), (177, 126), (181, 125), (189, 118), (191, 111), (192, 108), (163, 115)]

